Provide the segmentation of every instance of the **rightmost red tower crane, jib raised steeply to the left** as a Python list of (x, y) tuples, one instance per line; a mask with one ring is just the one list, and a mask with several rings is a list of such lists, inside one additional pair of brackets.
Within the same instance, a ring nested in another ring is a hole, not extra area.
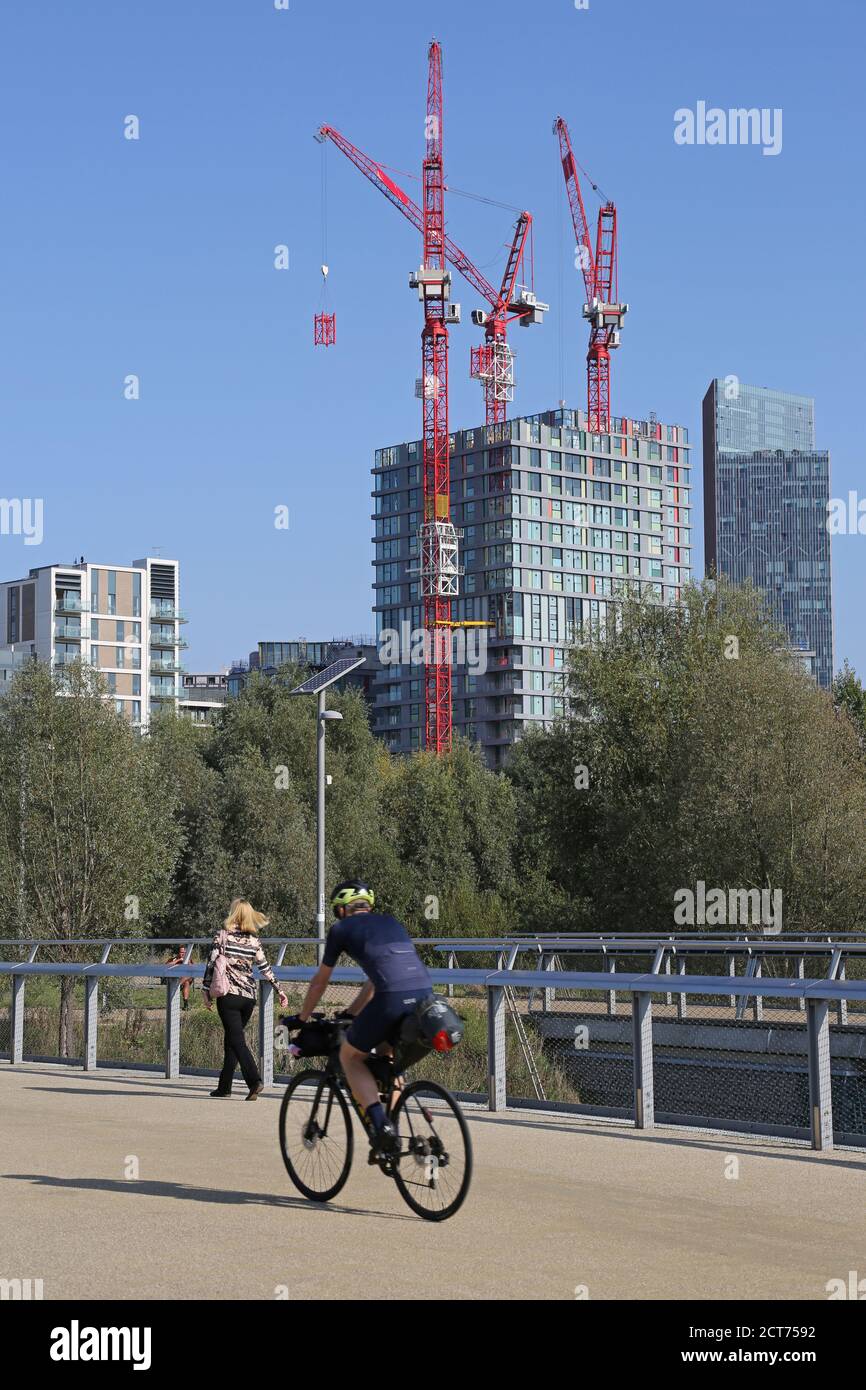
[(559, 153), (577, 239), (577, 253), (587, 286), (584, 304), (584, 318), (589, 320), (587, 414), (589, 430), (594, 434), (603, 434), (610, 430), (610, 352), (620, 346), (623, 318), (628, 311), (628, 304), (617, 302), (616, 207), (610, 202), (599, 207), (594, 252), (577, 177), (577, 160), (571, 149), (569, 126), (562, 115), (557, 115), (553, 132), (559, 136)]

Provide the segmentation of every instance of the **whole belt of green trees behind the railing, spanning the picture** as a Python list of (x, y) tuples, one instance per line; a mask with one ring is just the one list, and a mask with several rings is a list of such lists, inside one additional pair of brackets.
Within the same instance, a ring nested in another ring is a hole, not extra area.
[[(56, 938), (204, 935), (242, 895), (274, 934), (309, 935), (316, 702), (289, 694), (300, 674), (254, 677), (213, 727), (165, 713), (143, 738), (96, 673), (17, 674), (0, 702), (14, 920)], [(830, 698), (759, 594), (706, 582), (677, 609), (626, 598), (569, 677), (566, 717), (506, 773), (461, 739), (392, 756), (360, 695), (331, 691), (328, 881), (368, 878), (432, 937), (667, 931), (698, 880), (781, 890), (787, 930), (860, 924), (866, 694), (849, 666)]]

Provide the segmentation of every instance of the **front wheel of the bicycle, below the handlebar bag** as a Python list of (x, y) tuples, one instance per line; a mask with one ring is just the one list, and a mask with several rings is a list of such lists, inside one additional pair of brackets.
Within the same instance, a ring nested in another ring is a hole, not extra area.
[(279, 1106), (279, 1148), (299, 1193), (328, 1202), (352, 1168), (354, 1136), (346, 1098), (327, 1072), (293, 1076)]

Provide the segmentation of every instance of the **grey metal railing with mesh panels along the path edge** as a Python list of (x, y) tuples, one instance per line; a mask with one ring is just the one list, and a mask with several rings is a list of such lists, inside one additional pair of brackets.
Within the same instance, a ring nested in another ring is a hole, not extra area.
[[(316, 938), (263, 940), (265, 945), (278, 945), (275, 976), (286, 992), (299, 997), (314, 965), (285, 965), (285, 955), (297, 947), (313, 951)], [(40, 949), (85, 942), (0, 941), (1, 948), (14, 944), (28, 955), (26, 960), (0, 963), (0, 987), (6, 981), (11, 987), (10, 1045), (0, 1055), (13, 1063), (28, 1056), (60, 1061), (25, 1048), (25, 988), (29, 980), (67, 976), (75, 987), (83, 986), (82, 1052), (75, 1061), (85, 1070), (97, 1063), (135, 1065), (128, 1059), (99, 1062), (100, 988), (122, 980), (150, 987), (164, 981), (163, 1061), (150, 1066), (164, 1070), (167, 1077), (179, 1076), (182, 1031), (190, 1026), (181, 1017), (181, 980), (202, 977), (204, 967), (189, 960), (193, 947), (210, 945), (210, 938), (182, 941), (185, 963), (178, 966), (108, 960), (115, 945), (153, 949), (177, 945), (178, 938), (88, 940), (88, 947), (100, 949), (100, 959), (92, 963), (36, 959)], [(595, 938), (582, 942), (587, 951), (598, 954), (599, 945), (610, 949), (616, 944), (617, 949), (626, 948), (624, 955), (634, 956), (639, 947), (641, 955), (652, 951), (652, 967), (592, 972), (557, 969), (559, 951), (575, 949), (573, 937), (424, 938), (418, 944), (449, 952), (449, 967), (434, 967), (431, 976), (438, 988), (460, 997), (467, 1017), (463, 1048), (468, 1051), (459, 1048), (448, 1059), (436, 1058), (435, 1065), (442, 1066), (446, 1084), (459, 1094), (487, 1099), (492, 1111), (528, 1105), (631, 1118), (638, 1129), (673, 1123), (810, 1140), (819, 1150), (834, 1143), (866, 1145), (866, 980), (841, 977), (845, 956), (863, 958), (862, 940), (784, 944), (688, 940), (671, 945), (669, 938), (617, 937), (601, 944)], [(706, 956), (710, 945), (726, 955), (744, 956), (746, 973), (688, 976), (680, 969), (666, 973), (664, 960), (671, 959), (674, 947), (677, 952)], [(799, 972), (778, 977), (749, 972), (759, 949), (802, 959), (830, 951), (835, 977), (831, 972), (822, 979)], [(457, 951), (495, 952), (496, 966), (460, 969), (453, 963)], [(517, 967), (527, 951), (541, 952), (541, 967)], [(339, 994), (356, 988), (361, 980), (360, 970), (336, 969), (332, 988)], [(142, 1016), (145, 1012), (152, 1011), (138, 1009)], [(862, 1022), (852, 1022), (855, 1017)], [(275, 1058), (274, 994), (264, 981), (257, 1048), (263, 1077), (270, 1084)], [(183, 1063), (185, 1072), (214, 1069)]]

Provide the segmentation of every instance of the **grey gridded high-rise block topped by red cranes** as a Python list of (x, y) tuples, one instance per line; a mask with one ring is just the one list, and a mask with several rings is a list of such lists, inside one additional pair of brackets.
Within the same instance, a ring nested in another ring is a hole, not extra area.
[[(582, 410), (450, 436), (450, 513), (461, 532), (453, 727), (499, 766), (563, 709), (569, 646), (601, 628), (627, 585), (676, 603), (691, 577), (688, 431), (619, 418), (591, 434)], [(375, 453), (375, 621), (384, 663), (374, 730), (395, 751), (424, 728), (421, 442)]]

